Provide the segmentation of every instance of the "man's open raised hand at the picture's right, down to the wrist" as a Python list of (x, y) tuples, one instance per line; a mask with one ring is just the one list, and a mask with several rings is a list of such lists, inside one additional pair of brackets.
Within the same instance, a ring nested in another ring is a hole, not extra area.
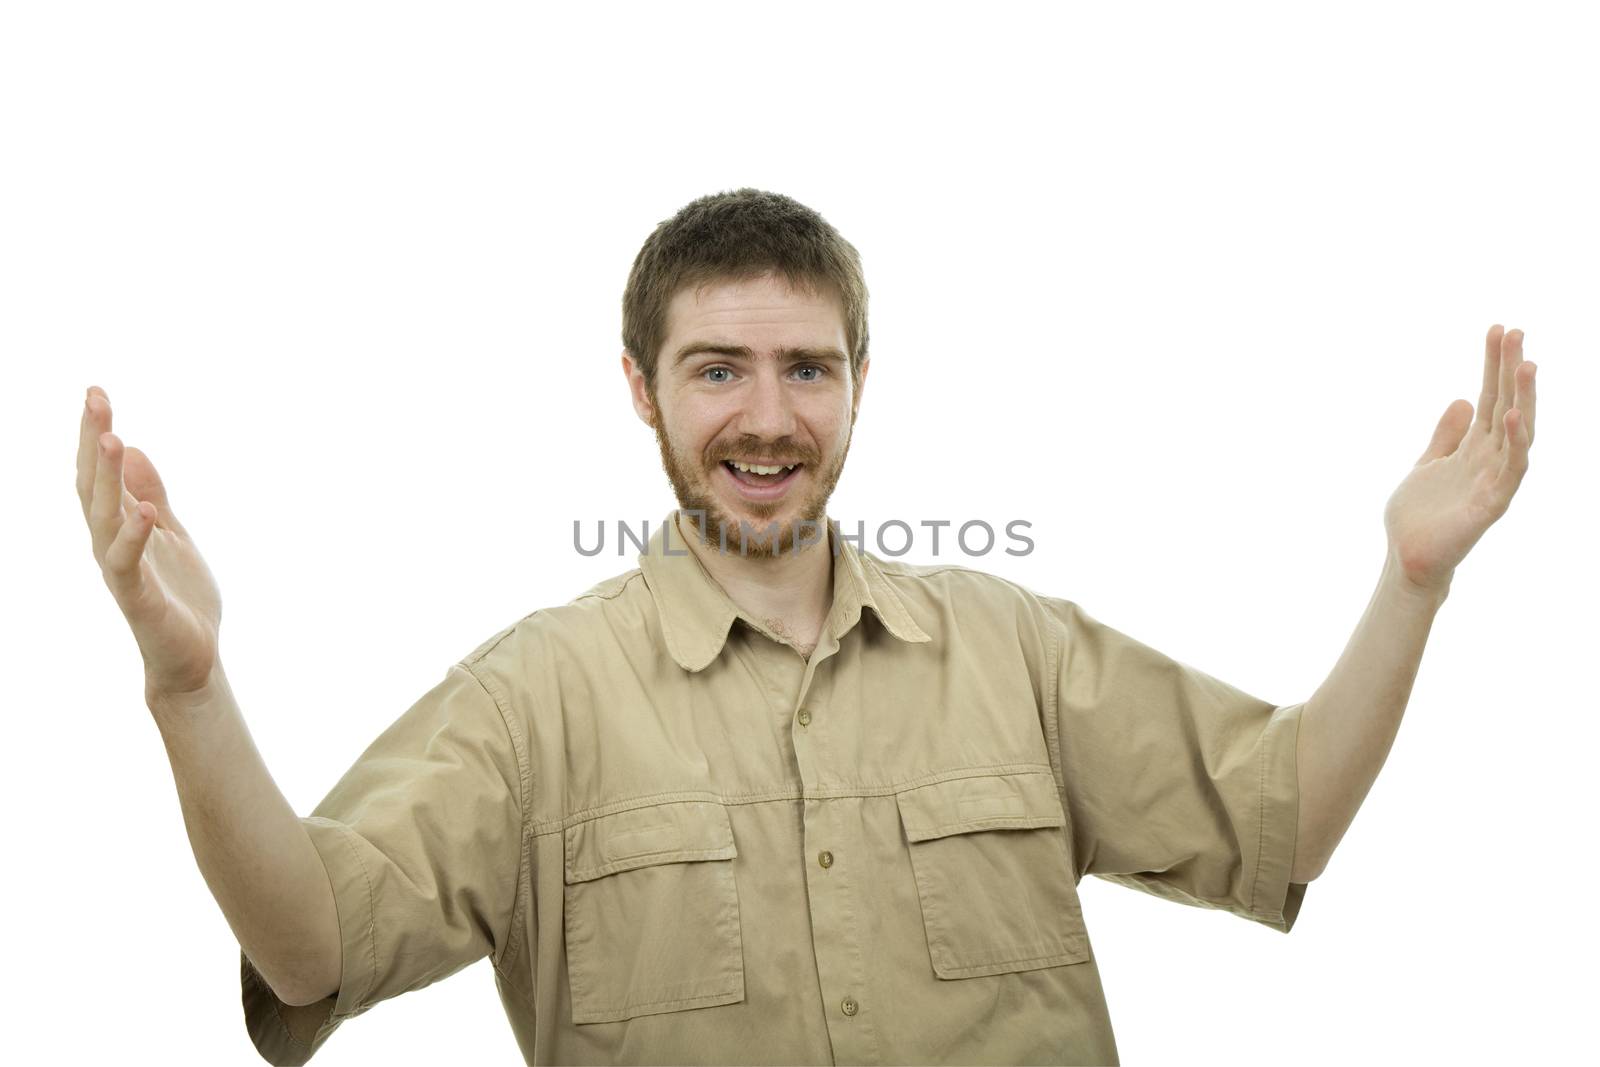
[(1450, 589), (1456, 565), (1494, 525), (1528, 472), (1534, 365), (1523, 363), (1522, 330), (1490, 326), (1477, 418), (1456, 400), (1434, 440), (1384, 507), (1389, 557), (1427, 593)]

